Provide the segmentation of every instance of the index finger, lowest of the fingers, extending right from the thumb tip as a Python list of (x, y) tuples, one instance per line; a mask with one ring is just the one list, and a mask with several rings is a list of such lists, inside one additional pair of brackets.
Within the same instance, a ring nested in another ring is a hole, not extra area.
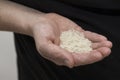
[(75, 66), (91, 64), (103, 59), (99, 51), (93, 50), (90, 53), (73, 53)]

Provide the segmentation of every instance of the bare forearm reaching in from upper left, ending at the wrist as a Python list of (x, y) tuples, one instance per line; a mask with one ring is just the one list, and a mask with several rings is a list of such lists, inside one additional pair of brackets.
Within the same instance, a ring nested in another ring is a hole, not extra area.
[(42, 19), (42, 14), (11, 1), (0, 1), (0, 31), (29, 34), (30, 24)]

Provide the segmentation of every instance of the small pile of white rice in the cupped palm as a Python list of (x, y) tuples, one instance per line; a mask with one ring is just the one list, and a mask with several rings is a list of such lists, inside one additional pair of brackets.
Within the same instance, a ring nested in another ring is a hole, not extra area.
[(92, 42), (85, 38), (82, 32), (70, 29), (60, 35), (60, 47), (75, 53), (87, 53), (92, 51)]

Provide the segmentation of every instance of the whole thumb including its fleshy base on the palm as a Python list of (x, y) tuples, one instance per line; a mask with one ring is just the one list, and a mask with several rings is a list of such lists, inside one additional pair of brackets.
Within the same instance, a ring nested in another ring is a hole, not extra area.
[[(72, 55), (60, 48), (59, 46), (53, 44), (54, 40), (51, 37), (47, 37), (42, 34), (34, 34), (34, 39), (38, 52), (42, 57), (58, 64), (65, 65), (68, 67), (73, 67), (74, 62)], [(57, 42), (56, 42), (57, 43)]]

